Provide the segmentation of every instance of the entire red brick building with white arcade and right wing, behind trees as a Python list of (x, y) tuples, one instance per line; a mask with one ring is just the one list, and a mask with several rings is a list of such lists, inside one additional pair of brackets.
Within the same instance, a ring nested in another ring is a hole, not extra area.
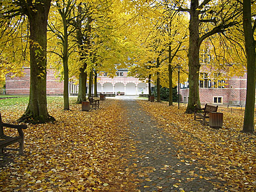
[[(148, 94), (148, 84), (140, 81), (138, 78), (128, 77), (127, 72), (128, 70), (119, 70), (116, 72), (117, 76), (114, 78), (110, 78), (108, 74), (103, 73), (97, 80), (97, 92), (113, 93), (115, 95), (117, 95), (118, 92), (121, 92), (123, 95), (139, 95), (142, 92)], [(223, 82), (225, 84), (224, 86), (222, 85)], [(29, 87), (29, 68), (24, 69), (23, 77), (11, 78), (6, 76), (6, 94), (29, 95)], [(152, 87), (154, 87), (153, 84)], [(70, 95), (77, 95), (78, 86), (70, 82), (69, 93)], [(188, 102), (188, 82), (181, 83), (180, 94), (181, 101)], [(52, 70), (48, 70), (47, 72), (47, 95), (63, 95), (63, 82), (55, 78)], [(246, 99), (246, 74), (243, 77), (232, 77), (230, 79), (213, 82), (211, 79), (208, 79), (206, 73), (204, 73), (203, 79), (200, 80), (199, 83), (199, 96), (201, 103), (244, 105)]]

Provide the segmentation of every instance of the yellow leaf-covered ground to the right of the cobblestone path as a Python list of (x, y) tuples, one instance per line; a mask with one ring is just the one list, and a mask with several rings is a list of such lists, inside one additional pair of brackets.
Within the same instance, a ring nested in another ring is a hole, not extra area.
[(185, 163), (200, 163), (215, 172), (218, 179), (227, 183), (225, 190), (256, 190), (256, 135), (241, 133), (242, 114), (224, 112), (223, 128), (215, 130), (185, 114), (183, 106), (178, 110), (167, 103), (138, 102), (177, 145), (183, 146), (183, 150), (177, 151), (178, 158), (188, 158), (190, 161)]

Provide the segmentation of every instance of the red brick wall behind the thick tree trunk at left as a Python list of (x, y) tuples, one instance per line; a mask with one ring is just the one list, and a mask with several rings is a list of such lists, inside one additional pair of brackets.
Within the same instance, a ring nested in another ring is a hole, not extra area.
[[(13, 77), (6, 75), (6, 94), (9, 95), (29, 95), (30, 69), (24, 69), (23, 77)], [(47, 95), (62, 95), (63, 82), (55, 79), (53, 70), (47, 71)]]

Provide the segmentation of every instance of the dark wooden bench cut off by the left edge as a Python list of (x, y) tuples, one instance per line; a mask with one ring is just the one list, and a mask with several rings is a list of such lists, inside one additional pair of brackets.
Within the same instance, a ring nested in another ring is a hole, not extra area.
[[(19, 136), (11, 137), (4, 134), (4, 127), (10, 127), (17, 129)], [(27, 125), (14, 125), (14, 124), (8, 124), (3, 123), (1, 113), (0, 113), (0, 153), (4, 153), (4, 150), (10, 150), (10, 151), (18, 151), (20, 155), (23, 154), (24, 151), (24, 133), (22, 129), (27, 129)], [(19, 148), (6, 148), (6, 146), (9, 146), (13, 143), (19, 143)]]

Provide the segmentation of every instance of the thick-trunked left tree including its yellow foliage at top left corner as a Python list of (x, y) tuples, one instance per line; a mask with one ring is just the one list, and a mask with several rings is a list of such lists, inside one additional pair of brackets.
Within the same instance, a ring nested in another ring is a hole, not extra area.
[(18, 15), (26, 15), (29, 22), (30, 95), (20, 122), (45, 123), (55, 120), (47, 111), (46, 99), (47, 19), (50, 5), (51, 0), (14, 0), (1, 3), (1, 26), (10, 24), (8, 20)]

